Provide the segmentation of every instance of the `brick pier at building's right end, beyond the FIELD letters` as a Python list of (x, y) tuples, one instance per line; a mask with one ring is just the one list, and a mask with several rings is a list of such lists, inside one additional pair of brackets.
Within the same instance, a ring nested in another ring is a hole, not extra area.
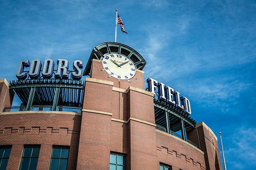
[(218, 138), (204, 122), (198, 123), (195, 129), (189, 129), (187, 138), (197, 144), (200, 150), (205, 153), (207, 170), (222, 170)]

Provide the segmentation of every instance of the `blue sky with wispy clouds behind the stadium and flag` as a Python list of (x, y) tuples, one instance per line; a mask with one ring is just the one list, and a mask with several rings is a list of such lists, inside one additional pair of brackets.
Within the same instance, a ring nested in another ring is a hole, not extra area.
[[(152, 77), (189, 98), (192, 117), (222, 132), (228, 170), (256, 169), (256, 2), (0, 1), (0, 77), (20, 60), (87, 62), (114, 41), (115, 9)], [(220, 146), (220, 143), (219, 143)]]

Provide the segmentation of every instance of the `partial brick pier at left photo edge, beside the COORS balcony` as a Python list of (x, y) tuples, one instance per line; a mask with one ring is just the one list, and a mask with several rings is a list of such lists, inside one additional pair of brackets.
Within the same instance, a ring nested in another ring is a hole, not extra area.
[(5, 78), (0, 79), (0, 112), (13, 103), (14, 92), (9, 89), (9, 83)]

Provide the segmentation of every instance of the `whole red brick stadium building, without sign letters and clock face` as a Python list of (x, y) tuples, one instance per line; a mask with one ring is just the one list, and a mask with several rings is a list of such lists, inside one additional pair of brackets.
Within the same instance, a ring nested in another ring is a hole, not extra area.
[[(127, 57), (135, 75), (108, 74), (110, 54)], [(145, 90), (145, 65), (131, 47), (108, 42), (92, 50), (84, 82), (0, 79), (0, 167), (222, 170), (216, 135)], [(11, 107), (15, 93), (22, 105)]]

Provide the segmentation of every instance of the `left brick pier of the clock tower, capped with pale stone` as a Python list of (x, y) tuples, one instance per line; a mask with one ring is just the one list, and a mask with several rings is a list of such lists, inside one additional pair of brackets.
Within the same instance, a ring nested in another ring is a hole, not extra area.
[(113, 82), (86, 78), (77, 170), (109, 170)]

